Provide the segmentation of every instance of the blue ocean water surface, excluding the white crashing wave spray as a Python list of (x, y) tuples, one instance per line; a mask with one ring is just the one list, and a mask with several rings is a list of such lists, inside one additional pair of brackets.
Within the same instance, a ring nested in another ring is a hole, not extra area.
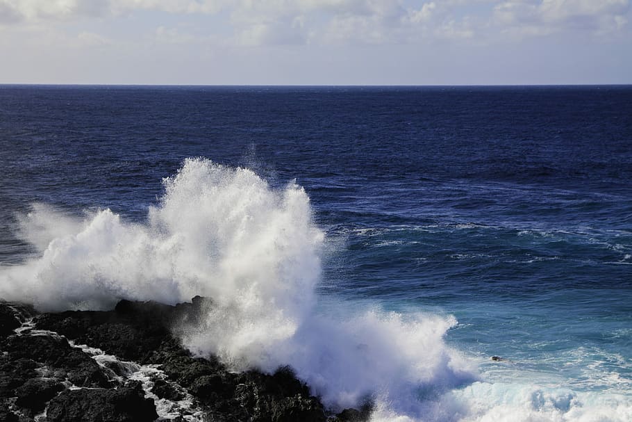
[(195, 156), (305, 188), (324, 302), (454, 315), (484, 382), (630, 414), (632, 87), (0, 86), (0, 263), (34, 202), (142, 222)]

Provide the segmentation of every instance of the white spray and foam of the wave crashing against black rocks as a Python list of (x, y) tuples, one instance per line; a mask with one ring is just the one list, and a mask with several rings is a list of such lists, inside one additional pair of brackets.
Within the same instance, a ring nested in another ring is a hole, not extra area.
[(454, 318), (319, 314), (326, 243), (296, 184), (274, 190), (250, 170), (203, 159), (185, 161), (164, 184), (144, 224), (108, 209), (73, 218), (35, 205), (21, 234), (40, 257), (0, 268), (0, 298), (62, 310), (208, 296), (215, 306), (203, 323), (183, 327), (194, 352), (216, 353), (236, 369), (289, 364), (327, 405), (372, 396), (376, 421), (632, 420), (629, 396), (604, 405), (538, 386), (475, 382), (473, 364), (443, 341)]

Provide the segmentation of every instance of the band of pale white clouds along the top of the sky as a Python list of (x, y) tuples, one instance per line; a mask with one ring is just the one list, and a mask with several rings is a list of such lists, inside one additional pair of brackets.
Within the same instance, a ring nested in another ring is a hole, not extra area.
[(630, 0), (0, 0), (0, 25), (121, 19), (153, 11), (183, 22), (192, 15), (223, 19), (215, 26), (198, 20), (203, 28), (192, 31), (195, 35), (157, 33), (158, 42), (209, 37), (249, 46), (493, 42), (506, 33), (613, 33), (626, 26), (629, 10)]

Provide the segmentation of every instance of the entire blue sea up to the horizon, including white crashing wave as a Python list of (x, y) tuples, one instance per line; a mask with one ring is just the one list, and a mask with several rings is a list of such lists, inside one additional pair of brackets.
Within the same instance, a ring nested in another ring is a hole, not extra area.
[[(376, 421), (632, 421), (632, 87), (0, 86), (0, 298)], [(493, 358), (492, 358), (493, 357)]]

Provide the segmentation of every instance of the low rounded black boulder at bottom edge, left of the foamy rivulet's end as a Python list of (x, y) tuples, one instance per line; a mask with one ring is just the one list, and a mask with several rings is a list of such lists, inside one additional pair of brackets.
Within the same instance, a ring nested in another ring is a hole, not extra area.
[(140, 385), (118, 389), (65, 390), (50, 401), (50, 422), (152, 422), (158, 419), (153, 399)]

